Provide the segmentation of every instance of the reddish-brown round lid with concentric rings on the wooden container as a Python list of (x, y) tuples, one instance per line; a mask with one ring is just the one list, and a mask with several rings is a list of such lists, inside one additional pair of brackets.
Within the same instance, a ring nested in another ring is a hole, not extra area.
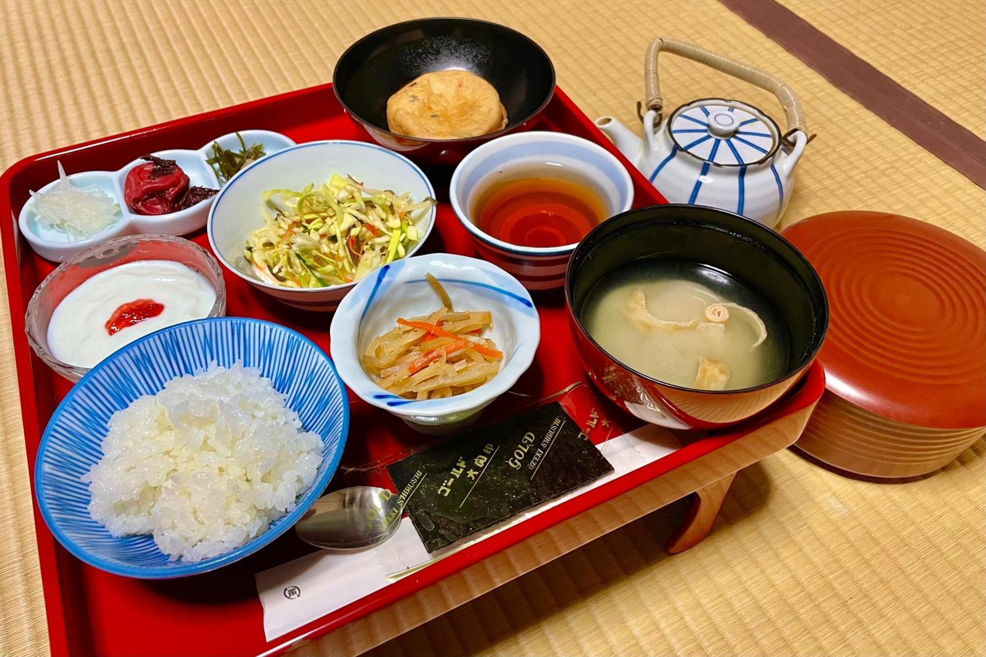
[(986, 426), (986, 253), (882, 212), (820, 214), (783, 235), (828, 294), (830, 392), (915, 426)]

